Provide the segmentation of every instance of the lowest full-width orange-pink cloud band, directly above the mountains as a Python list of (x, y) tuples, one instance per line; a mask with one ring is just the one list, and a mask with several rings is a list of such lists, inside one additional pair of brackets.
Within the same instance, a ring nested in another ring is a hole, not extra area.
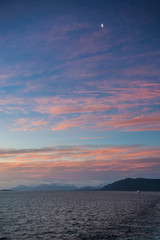
[(72, 146), (42, 149), (0, 149), (0, 180), (99, 179), (110, 174), (158, 174), (159, 147)]

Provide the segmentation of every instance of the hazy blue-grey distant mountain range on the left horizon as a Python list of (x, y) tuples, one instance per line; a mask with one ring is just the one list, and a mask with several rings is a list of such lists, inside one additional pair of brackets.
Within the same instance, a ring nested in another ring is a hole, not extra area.
[(66, 191), (66, 190), (77, 190), (77, 187), (72, 184), (40, 184), (38, 186), (26, 186), (19, 185), (17, 187), (11, 188), (11, 190), (16, 191)]

